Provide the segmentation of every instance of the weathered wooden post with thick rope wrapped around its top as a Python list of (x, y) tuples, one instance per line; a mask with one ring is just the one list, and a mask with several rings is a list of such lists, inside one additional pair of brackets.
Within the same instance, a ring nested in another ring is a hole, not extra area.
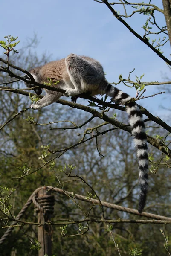
[[(48, 205), (53, 209), (54, 196), (47, 193), (46, 187), (39, 190), (37, 202), (43, 209), (48, 209)], [(44, 223), (51, 220), (51, 212), (53, 210), (46, 210), (42, 212), (41, 209), (38, 211), (38, 223)], [(48, 256), (52, 256), (52, 226), (40, 226), (38, 227), (38, 241), (41, 243), (41, 250), (38, 251), (38, 256), (44, 256), (45, 253)]]

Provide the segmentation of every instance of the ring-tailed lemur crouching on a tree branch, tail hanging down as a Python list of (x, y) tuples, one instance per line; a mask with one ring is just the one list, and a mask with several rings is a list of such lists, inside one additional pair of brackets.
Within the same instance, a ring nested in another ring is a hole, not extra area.
[[(138, 105), (131, 101), (131, 97), (121, 90), (108, 84), (104, 77), (104, 70), (101, 64), (93, 58), (70, 54), (65, 59), (52, 61), (41, 67), (36, 67), (29, 70), (35, 81), (43, 84), (52, 81), (60, 81), (55, 87), (65, 89), (65, 96), (77, 96), (81, 93), (89, 92), (90, 96), (97, 94), (107, 94), (117, 104), (125, 105), (129, 116), (129, 122), (132, 129), (132, 135), (136, 146), (137, 157), (139, 160), (139, 213), (145, 207), (146, 194), (148, 189), (148, 148), (147, 136), (145, 134), (145, 124), (142, 118), (142, 113)], [(29, 76), (25, 75), (25, 79), (30, 80)], [(26, 84), (31, 88), (34, 85)], [(31, 108), (38, 109), (56, 102), (63, 93), (46, 90), (46, 95), (36, 104), (32, 104)], [(35, 92), (40, 95), (41, 88), (35, 89)]]

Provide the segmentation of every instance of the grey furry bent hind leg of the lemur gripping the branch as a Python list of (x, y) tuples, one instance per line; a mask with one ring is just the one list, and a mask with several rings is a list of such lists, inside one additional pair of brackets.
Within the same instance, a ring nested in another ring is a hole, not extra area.
[(75, 87), (75, 89), (68, 88), (65, 92), (65, 96), (68, 97), (81, 94), (88, 89), (86, 87), (87, 84), (92, 84), (93, 86), (95, 82), (96, 84), (99, 83), (96, 68), (86, 59), (83, 59), (75, 54), (70, 54), (67, 56), (67, 58), (65, 58), (65, 63), (70, 80)]

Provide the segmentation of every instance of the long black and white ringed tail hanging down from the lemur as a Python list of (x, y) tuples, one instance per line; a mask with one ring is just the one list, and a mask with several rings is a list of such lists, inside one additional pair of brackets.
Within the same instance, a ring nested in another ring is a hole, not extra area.
[[(113, 98), (119, 105), (125, 105), (128, 113), (130, 127), (132, 129), (133, 140), (136, 147), (136, 154), (139, 160), (139, 213), (145, 207), (148, 190), (148, 148), (145, 124), (142, 113), (135, 102), (129, 102), (131, 97), (111, 84), (106, 85), (106, 94)], [(128, 103), (129, 102), (129, 103)]]

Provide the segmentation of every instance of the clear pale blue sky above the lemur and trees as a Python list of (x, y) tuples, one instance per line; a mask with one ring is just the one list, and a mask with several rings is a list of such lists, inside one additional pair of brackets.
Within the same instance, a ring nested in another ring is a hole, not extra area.
[[(161, 0), (152, 0), (162, 8)], [(107, 73), (107, 80), (118, 81), (119, 74), (127, 78), (129, 71), (136, 68), (135, 75), (145, 73), (144, 81), (164, 81), (165, 74), (170, 71), (165, 62), (139, 41), (125, 28), (104, 4), (93, 0), (8, 0), (2, 1), (0, 40), (5, 35), (18, 36), (20, 46), (34, 33), (41, 38), (38, 55), (43, 52), (52, 54), (52, 60), (63, 58), (69, 53), (88, 55), (101, 62)], [(118, 8), (120, 9), (121, 8)], [(142, 25), (145, 15), (135, 15), (126, 21), (133, 26), (136, 32), (143, 35)], [(165, 21), (158, 15), (162, 25)], [(0, 49), (0, 53), (3, 51)], [(164, 48), (167, 57), (170, 54), (170, 45)], [(135, 89), (119, 86), (131, 96), (136, 95)], [(147, 87), (145, 96), (156, 92), (157, 87)], [(158, 106), (162, 104), (162, 96), (155, 96), (142, 100), (140, 105), (145, 106), (152, 113), (158, 115), (163, 111)], [(169, 100), (165, 100), (169, 107)], [(159, 111), (158, 111), (159, 110)]]

